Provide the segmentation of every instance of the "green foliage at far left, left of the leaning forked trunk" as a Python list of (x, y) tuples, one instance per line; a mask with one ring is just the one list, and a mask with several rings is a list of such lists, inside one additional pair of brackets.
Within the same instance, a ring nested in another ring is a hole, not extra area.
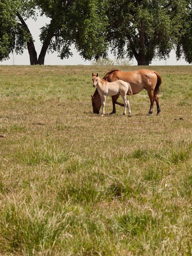
[(9, 58), (9, 53), (21, 54), (31, 40), (27, 27), (20, 23), (21, 15), (25, 18), (34, 16), (33, 0), (1, 0), (0, 2), (0, 60)]

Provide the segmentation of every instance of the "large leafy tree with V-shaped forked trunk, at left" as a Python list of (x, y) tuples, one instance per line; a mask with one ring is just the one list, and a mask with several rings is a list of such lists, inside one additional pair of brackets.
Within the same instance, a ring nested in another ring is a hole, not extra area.
[[(9, 7), (14, 6), (13, 15), (9, 15), (8, 26), (4, 28), (4, 34), (0, 34), (4, 41), (4, 56), (0, 60), (7, 58), (7, 54), (16, 50), (21, 53), (27, 47), (31, 65), (44, 64), (47, 51), (57, 51), (60, 58), (72, 55), (70, 46), (75, 46), (80, 55), (91, 60), (106, 56), (107, 41), (105, 29), (107, 18), (105, 16), (105, 1), (103, 0), (0, 0), (1, 3), (8, 2)], [(17, 3), (17, 4), (16, 4)], [(2, 4), (2, 11), (6, 5)], [(41, 15), (50, 18), (50, 23), (41, 28), (40, 40), (42, 49), (39, 56), (33, 43), (33, 37), (27, 27), (25, 19), (29, 15), (35, 18), (35, 9), (38, 8)], [(6, 29), (7, 28), (7, 29)], [(12, 33), (11, 36), (9, 33)], [(7, 43), (6, 43), (7, 42)], [(5, 48), (7, 47), (7, 51)]]

